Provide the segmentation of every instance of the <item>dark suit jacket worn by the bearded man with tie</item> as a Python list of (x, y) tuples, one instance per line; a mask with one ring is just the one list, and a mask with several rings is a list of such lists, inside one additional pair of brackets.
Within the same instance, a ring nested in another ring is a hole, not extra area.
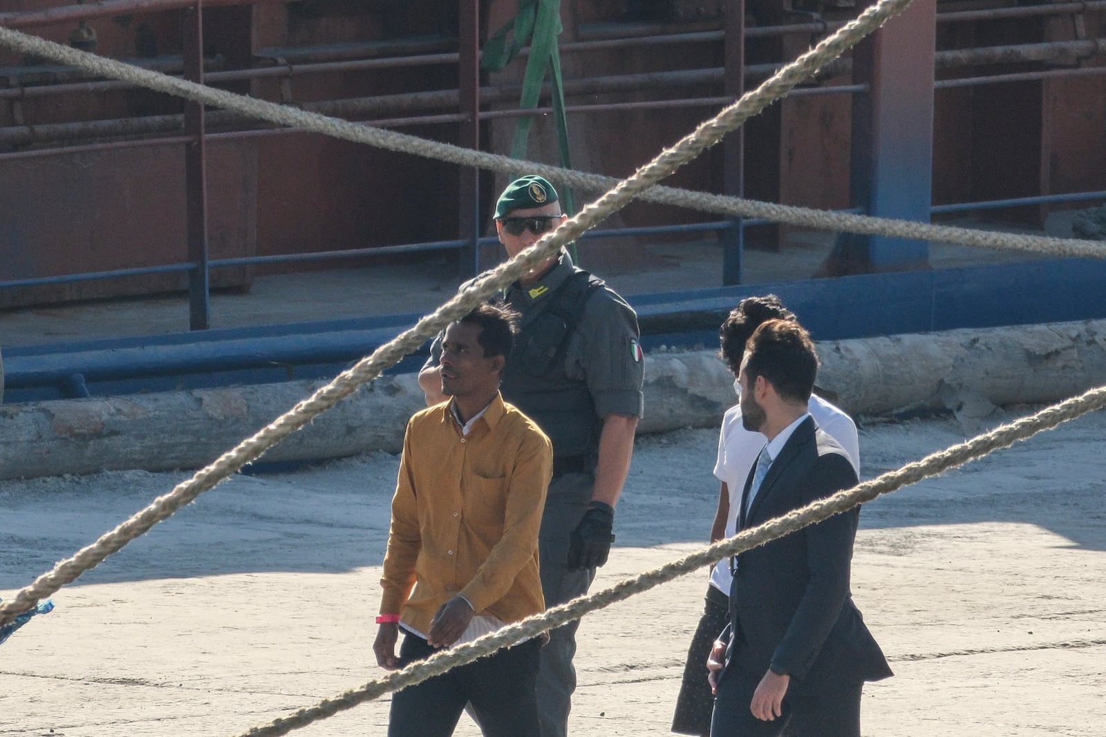
[[(751, 470), (742, 510), (752, 476)], [(856, 483), (845, 451), (808, 417), (773, 461), (739, 528), (755, 527)], [(738, 556), (727, 672), (737, 667), (759, 677), (771, 665), (792, 676), (789, 688), (795, 691), (891, 675), (849, 591), (859, 515), (853, 508)]]

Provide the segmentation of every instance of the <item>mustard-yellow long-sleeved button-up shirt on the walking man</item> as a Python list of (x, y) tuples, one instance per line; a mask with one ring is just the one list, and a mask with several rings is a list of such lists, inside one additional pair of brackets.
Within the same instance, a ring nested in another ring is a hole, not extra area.
[(549, 438), (497, 394), (468, 435), (452, 402), (407, 423), (380, 586), (382, 614), (429, 632), (465, 597), (476, 614), (515, 622), (545, 610), (538, 533), (553, 472)]

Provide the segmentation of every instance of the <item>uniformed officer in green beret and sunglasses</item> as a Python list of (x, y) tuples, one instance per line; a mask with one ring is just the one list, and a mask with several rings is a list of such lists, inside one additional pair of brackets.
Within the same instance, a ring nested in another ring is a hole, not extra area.
[[(566, 215), (546, 179), (515, 179), (495, 203), (495, 231), (510, 257), (554, 230)], [(553, 441), (553, 481), (539, 548), (545, 606), (587, 592), (607, 561), (614, 510), (629, 471), (643, 412), (643, 355), (637, 315), (602, 280), (562, 250), (504, 295), (521, 314), (501, 391)], [(439, 341), (419, 372), (428, 403), (441, 401)], [(567, 731), (576, 672), (577, 622), (550, 633), (538, 677), (542, 736)]]

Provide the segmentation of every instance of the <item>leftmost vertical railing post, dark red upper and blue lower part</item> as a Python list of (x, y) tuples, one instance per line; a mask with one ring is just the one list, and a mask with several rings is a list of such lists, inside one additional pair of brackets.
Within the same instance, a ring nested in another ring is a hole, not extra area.
[[(204, 84), (204, 0), (184, 12), (185, 78)], [(204, 138), (204, 105), (185, 103), (185, 201), (187, 209), (189, 329), (210, 327), (211, 284), (207, 240), (207, 176)]]

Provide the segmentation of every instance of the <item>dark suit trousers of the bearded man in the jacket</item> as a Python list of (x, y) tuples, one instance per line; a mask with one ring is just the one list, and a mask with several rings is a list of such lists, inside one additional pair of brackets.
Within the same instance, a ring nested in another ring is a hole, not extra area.
[(783, 697), (783, 715), (772, 722), (753, 716), (749, 705), (763, 673), (727, 667), (718, 684), (710, 737), (778, 737), (794, 729), (799, 737), (860, 737), (863, 683), (838, 684), (832, 689), (795, 697), (793, 688)]

